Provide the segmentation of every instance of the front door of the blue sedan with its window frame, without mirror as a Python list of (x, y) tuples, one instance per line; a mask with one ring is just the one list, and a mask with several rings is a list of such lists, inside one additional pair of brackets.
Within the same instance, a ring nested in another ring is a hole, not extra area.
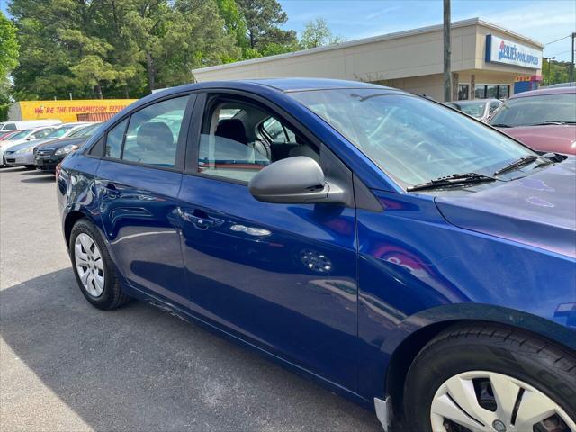
[[(261, 103), (204, 96), (202, 111), (194, 111), (197, 139), (179, 195), (193, 311), (356, 388), (354, 205), (258, 202), (247, 188), (260, 169), (284, 157), (313, 157), (350, 190), (351, 173)], [(276, 134), (278, 124), (282, 133)]]

